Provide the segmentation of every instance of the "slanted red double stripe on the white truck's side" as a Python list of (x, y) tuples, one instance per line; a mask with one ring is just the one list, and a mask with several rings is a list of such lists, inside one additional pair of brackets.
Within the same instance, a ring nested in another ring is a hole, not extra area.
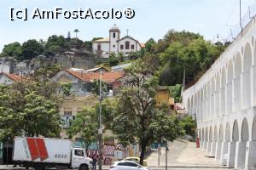
[(40, 158), (41, 161), (44, 161), (49, 157), (44, 143), (44, 139), (26, 138), (26, 142), (28, 145), (30, 155), (32, 157), (32, 161), (34, 161), (37, 158)]

